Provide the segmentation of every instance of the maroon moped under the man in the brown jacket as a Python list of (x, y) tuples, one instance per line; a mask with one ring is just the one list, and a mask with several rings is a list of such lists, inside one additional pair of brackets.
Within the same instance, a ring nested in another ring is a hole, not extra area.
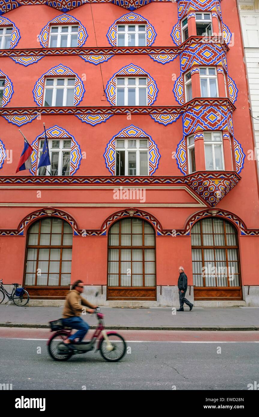
[(72, 329), (64, 327), (62, 319), (50, 322), (51, 332), (55, 333), (48, 340), (48, 352), (55, 361), (67, 361), (72, 355), (86, 353), (94, 349), (100, 350), (102, 357), (108, 362), (118, 362), (126, 353), (126, 342), (117, 332), (106, 332), (103, 317), (104, 314), (97, 308), (98, 327), (92, 339), (88, 342), (64, 344), (63, 340), (70, 336)]

